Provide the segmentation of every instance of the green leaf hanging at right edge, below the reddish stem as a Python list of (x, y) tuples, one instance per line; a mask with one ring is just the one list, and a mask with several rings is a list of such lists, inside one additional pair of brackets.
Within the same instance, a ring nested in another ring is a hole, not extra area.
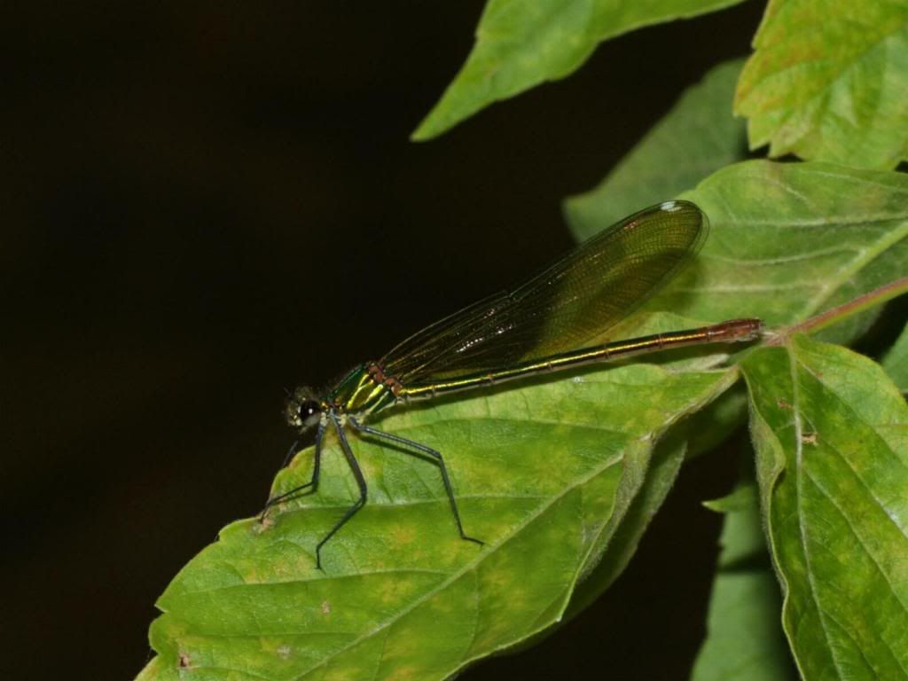
[(795, 336), (743, 367), (804, 678), (908, 678), (908, 405), (879, 365)]

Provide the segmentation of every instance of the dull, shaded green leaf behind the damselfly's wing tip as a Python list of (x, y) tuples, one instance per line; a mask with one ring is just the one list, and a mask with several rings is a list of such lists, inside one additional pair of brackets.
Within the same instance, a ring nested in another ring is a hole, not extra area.
[(578, 241), (746, 157), (745, 123), (735, 120), (731, 106), (743, 64), (725, 62), (709, 71), (596, 189), (568, 198), (565, 216)]

